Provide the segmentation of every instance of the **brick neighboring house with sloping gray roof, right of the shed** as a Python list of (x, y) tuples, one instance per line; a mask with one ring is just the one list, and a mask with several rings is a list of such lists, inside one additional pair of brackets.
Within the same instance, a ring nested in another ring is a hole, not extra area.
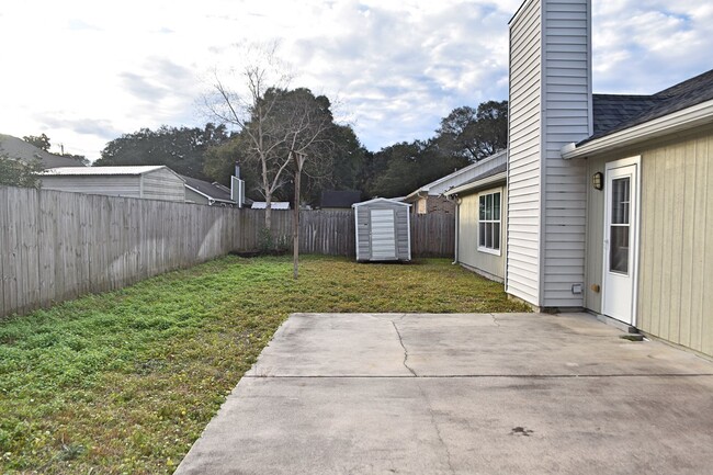
[[(425, 184), (412, 193), (409, 193), (404, 199), (404, 202), (412, 204), (412, 210), (416, 214), (453, 213), (455, 211), (455, 205), (444, 195), (444, 193), (448, 190), (454, 186), (460, 186), (461, 184), (473, 180), (478, 174), (486, 172), (488, 167), (497, 167), (500, 162), (505, 163), (506, 160), (507, 154), (505, 150), (494, 154), (493, 157), (488, 157), (485, 160), (478, 160), (477, 162), (463, 167), (451, 174)], [(485, 162), (487, 162), (487, 165)]]

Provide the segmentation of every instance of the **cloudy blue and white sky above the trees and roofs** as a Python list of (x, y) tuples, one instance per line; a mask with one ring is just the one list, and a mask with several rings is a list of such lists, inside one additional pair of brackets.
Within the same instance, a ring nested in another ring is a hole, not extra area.
[[(507, 98), (520, 0), (7, 1), (0, 133), (99, 158), (142, 127), (202, 125), (212, 71), (279, 39), (294, 87), (336, 103), (371, 150), (428, 138), (460, 105)], [(592, 0), (596, 92), (652, 93), (713, 68), (713, 3)]]

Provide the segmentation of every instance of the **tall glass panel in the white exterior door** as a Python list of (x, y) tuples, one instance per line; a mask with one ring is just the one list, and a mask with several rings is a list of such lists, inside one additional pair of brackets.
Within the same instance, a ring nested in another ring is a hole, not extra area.
[(609, 226), (609, 270), (629, 273), (631, 178), (611, 182), (611, 224)]

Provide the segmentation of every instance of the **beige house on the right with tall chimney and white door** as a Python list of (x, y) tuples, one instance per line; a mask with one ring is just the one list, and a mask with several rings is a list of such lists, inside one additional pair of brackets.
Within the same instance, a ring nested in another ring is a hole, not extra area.
[[(527, 0), (510, 21), (506, 292), (713, 355), (713, 71), (592, 94), (590, 29), (590, 0)], [(485, 218), (462, 206), (465, 259), (496, 220), (487, 197)]]

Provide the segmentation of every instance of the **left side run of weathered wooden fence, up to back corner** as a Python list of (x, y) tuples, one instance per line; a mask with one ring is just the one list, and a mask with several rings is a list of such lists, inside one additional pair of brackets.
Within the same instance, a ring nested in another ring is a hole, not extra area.
[(238, 210), (0, 186), (0, 315), (235, 249)]

